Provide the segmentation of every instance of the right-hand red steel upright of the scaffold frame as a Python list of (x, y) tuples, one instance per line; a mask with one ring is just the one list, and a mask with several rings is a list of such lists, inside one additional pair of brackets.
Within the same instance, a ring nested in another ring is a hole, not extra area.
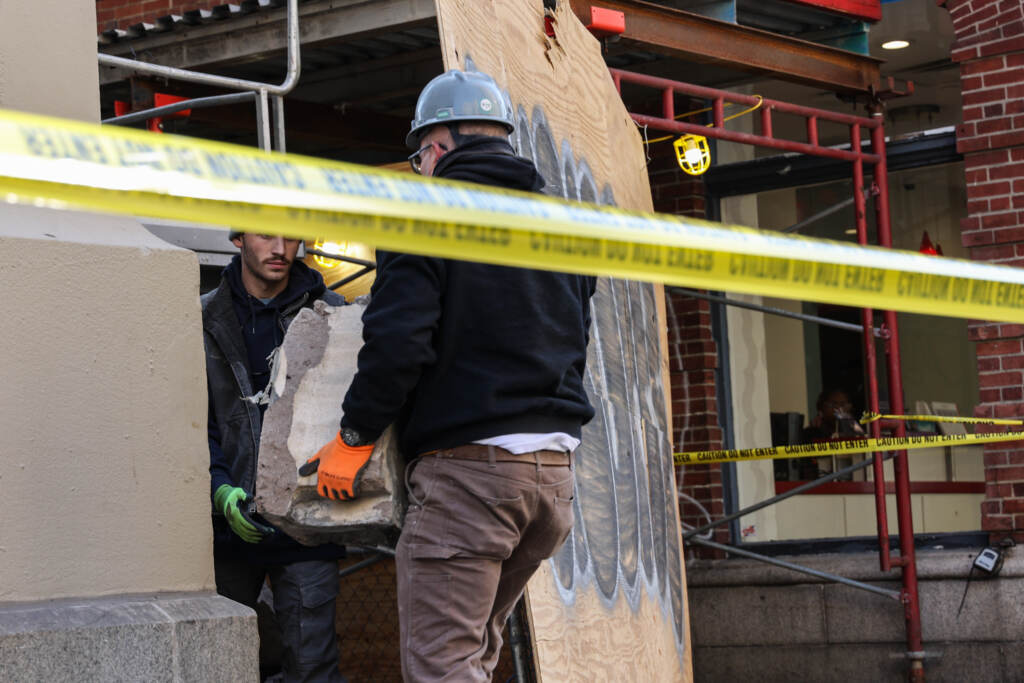
[[(883, 110), (880, 104), (871, 108), (871, 116), (879, 126), (871, 131), (871, 151), (879, 161), (874, 165), (874, 182), (879, 187), (876, 200), (876, 220), (879, 229), (879, 244), (892, 247), (892, 227), (889, 222), (889, 172), (886, 167), (886, 138), (882, 126)], [(887, 375), (889, 378), (889, 408), (894, 415), (904, 415), (903, 376), (899, 357), (899, 329), (896, 312), (884, 313), (889, 339), (886, 340)], [(906, 435), (903, 421), (896, 427), (896, 435)], [(921, 603), (918, 595), (918, 564), (913, 548), (913, 515), (910, 510), (910, 473), (906, 451), (897, 453), (893, 461), (896, 479), (896, 515), (899, 526), (900, 565), (903, 579), (903, 615), (906, 622), (907, 655), (910, 657), (909, 680), (924, 681), (924, 646), (921, 640)]]

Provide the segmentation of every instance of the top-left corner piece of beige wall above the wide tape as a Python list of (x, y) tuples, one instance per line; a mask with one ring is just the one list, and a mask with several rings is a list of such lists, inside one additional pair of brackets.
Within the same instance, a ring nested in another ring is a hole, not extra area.
[(99, 118), (96, 3), (0, 0), (0, 108)]

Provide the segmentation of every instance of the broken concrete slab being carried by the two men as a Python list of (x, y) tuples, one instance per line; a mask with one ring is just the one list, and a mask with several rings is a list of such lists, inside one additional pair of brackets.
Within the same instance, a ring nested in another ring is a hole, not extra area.
[(270, 523), (307, 545), (389, 543), (406, 508), (403, 464), (392, 428), (377, 441), (359, 498), (336, 502), (316, 494), (316, 475), (298, 467), (334, 438), (341, 401), (355, 375), (362, 346), (364, 305), (316, 302), (289, 326), (263, 416), (256, 475), (256, 509)]

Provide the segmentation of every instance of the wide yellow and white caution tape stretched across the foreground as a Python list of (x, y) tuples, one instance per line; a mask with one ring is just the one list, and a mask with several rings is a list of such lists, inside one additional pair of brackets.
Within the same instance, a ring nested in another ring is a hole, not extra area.
[(0, 112), (0, 199), (504, 265), (1024, 323), (1024, 270)]

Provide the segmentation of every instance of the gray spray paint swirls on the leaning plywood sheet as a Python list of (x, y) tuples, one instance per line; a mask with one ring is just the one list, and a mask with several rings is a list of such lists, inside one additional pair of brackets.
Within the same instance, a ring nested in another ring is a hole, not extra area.
[[(614, 205), (600, 193), (586, 159), (568, 140), (557, 144), (544, 110), (516, 109), (517, 153), (547, 180), (545, 193)], [(575, 527), (551, 559), (566, 604), (593, 585), (610, 608), (623, 597), (636, 609), (644, 593), (671, 620), (685, 654), (683, 578), (677, 558), (672, 449), (664, 410), (660, 346), (653, 287), (602, 278), (591, 304), (593, 324), (585, 383), (596, 415), (584, 427), (577, 460)]]

